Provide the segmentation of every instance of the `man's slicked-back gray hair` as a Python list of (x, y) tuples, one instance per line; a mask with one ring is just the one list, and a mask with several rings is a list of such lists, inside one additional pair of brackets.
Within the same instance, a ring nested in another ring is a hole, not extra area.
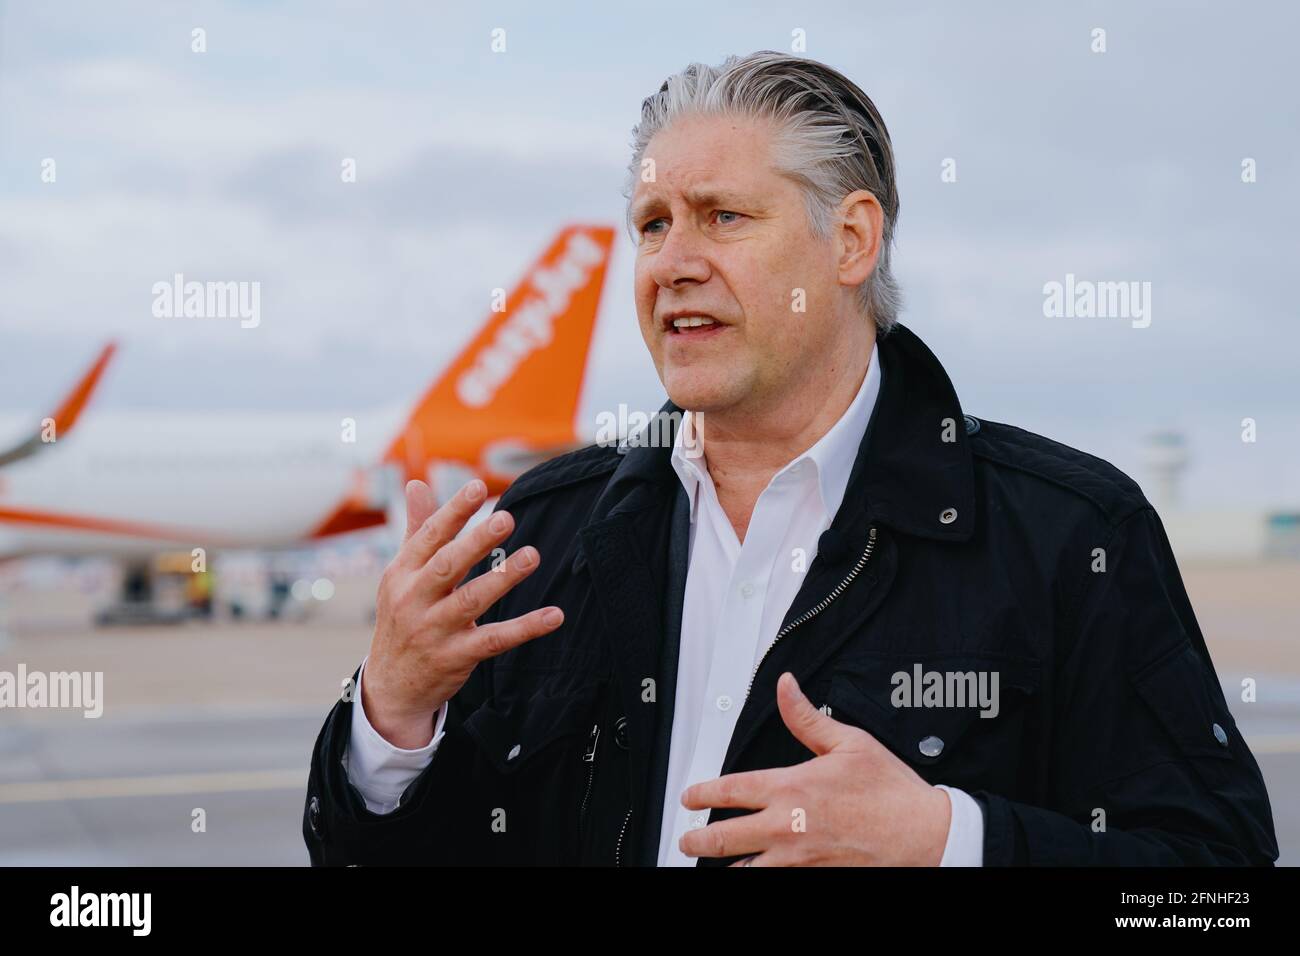
[[(889, 131), (871, 99), (842, 73), (786, 53), (729, 56), (720, 66), (693, 62), (641, 104), (624, 189), (629, 215), (650, 140), (690, 113), (771, 120), (776, 168), (802, 186), (809, 226), (820, 239), (829, 238), (846, 195), (863, 189), (876, 198), (884, 211), (884, 239), (876, 268), (858, 286), (858, 304), (881, 333), (889, 332), (902, 308), (902, 293), (889, 269), (898, 187)], [(625, 225), (636, 238), (630, 220)]]

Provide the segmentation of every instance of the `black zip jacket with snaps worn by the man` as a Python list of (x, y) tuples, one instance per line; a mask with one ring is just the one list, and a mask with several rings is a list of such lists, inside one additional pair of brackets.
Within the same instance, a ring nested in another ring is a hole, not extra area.
[[(1138, 485), (963, 416), (909, 329), (880, 337), (878, 355), (881, 392), (844, 503), (722, 773), (812, 756), (776, 710), (790, 670), (832, 717), (971, 793), (985, 865), (1271, 864), (1260, 767)], [(354, 704), (338, 702), (303, 814), (313, 864), (655, 864), (689, 527), (670, 454), (592, 446), (502, 496), (516, 519), (507, 551), (533, 544), (542, 564), (482, 620), (554, 604), (564, 624), (473, 671), (390, 814), (347, 783)], [(893, 706), (892, 675), (916, 665), (997, 671), (998, 714)], [(923, 753), (927, 737), (941, 744)]]

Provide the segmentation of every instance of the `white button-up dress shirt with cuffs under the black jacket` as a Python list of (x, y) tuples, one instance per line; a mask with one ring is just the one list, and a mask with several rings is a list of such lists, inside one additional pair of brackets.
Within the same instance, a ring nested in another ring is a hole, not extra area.
[[(686, 830), (703, 826), (708, 814), (685, 809), (681, 793), (722, 771), (751, 675), (798, 593), (803, 568), (816, 557), (818, 538), (844, 499), (880, 381), (872, 349), (853, 403), (812, 447), (772, 476), (754, 505), (744, 542), (718, 502), (705, 457), (688, 454), (682, 445), (686, 429), (677, 429), (671, 462), (690, 502), (690, 559), (659, 831), (660, 866), (696, 865), (677, 842)], [(360, 701), (360, 676), (355, 701)], [(446, 717), (443, 705), (433, 740), (403, 750), (381, 737), (363, 708), (354, 705), (343, 760), (348, 780), (373, 813), (393, 810), (402, 791), (433, 760)], [(952, 822), (940, 865), (980, 866), (984, 817), (979, 804), (965, 791), (941, 790), (952, 805)]]

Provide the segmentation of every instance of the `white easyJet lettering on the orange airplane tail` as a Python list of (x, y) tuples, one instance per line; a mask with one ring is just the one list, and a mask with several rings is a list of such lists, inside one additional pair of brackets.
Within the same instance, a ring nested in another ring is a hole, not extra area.
[(586, 233), (573, 233), (559, 260), (533, 273), (533, 294), (456, 380), (456, 397), (472, 408), (489, 405), (529, 355), (551, 343), (555, 320), (564, 315), (573, 294), (586, 287), (593, 269), (603, 260), (601, 243)]

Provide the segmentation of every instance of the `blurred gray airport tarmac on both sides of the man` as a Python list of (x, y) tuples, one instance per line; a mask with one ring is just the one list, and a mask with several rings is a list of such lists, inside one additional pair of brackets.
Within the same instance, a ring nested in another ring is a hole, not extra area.
[[(1183, 576), (1297, 864), (1300, 564)], [(0, 865), (304, 865), (312, 744), (369, 644), (373, 579), (335, 584), (303, 620), (110, 630), (94, 594), (4, 593), (0, 671), (103, 671), (104, 711), (0, 710)]]

